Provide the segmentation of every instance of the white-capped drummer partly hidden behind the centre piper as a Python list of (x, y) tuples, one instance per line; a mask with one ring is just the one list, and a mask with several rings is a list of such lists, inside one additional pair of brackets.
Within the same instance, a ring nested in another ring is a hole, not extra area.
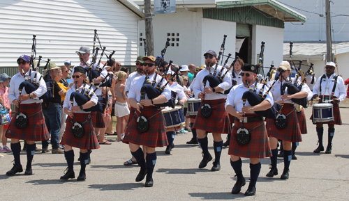
[[(168, 88), (169, 90), (177, 93), (177, 99), (179, 99), (178, 105), (183, 108), (184, 104), (186, 104), (187, 97), (184, 93), (184, 88), (177, 83), (176, 77), (173, 77), (171, 79), (172, 74), (174, 74), (172, 70), (169, 70), (166, 74), (166, 80), (168, 80), (169, 83)], [(166, 147), (165, 154), (171, 153), (174, 136), (176, 135), (175, 129), (179, 129), (179, 127), (166, 129), (166, 135), (168, 136), (168, 146)]]

